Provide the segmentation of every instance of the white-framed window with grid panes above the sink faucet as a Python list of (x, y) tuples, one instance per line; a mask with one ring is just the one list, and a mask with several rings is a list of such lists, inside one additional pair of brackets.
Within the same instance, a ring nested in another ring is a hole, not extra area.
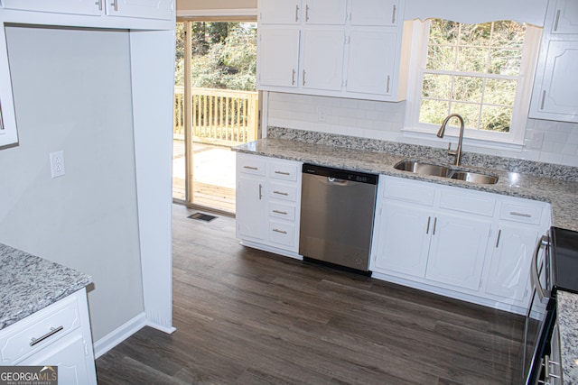
[(413, 96), (409, 93), (412, 130), (435, 133), (445, 116), (460, 114), (467, 138), (521, 144), (540, 30), (509, 21), (443, 19), (419, 30), (418, 76)]

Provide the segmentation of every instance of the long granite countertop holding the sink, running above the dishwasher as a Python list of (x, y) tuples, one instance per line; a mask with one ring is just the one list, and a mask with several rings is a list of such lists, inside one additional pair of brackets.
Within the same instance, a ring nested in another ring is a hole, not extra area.
[[(578, 231), (578, 182), (576, 181), (545, 178), (498, 169), (460, 166), (460, 169), (483, 172), (499, 178), (498, 183), (494, 185), (473, 184), (462, 180), (416, 175), (394, 169), (394, 165), (400, 160), (423, 160), (416, 154), (404, 156), (276, 138), (240, 144), (233, 150), (286, 160), (299, 160), (337, 169), (419, 179), (448, 186), (545, 201), (552, 206), (553, 225)], [(436, 160), (430, 162), (447, 165), (447, 163)]]

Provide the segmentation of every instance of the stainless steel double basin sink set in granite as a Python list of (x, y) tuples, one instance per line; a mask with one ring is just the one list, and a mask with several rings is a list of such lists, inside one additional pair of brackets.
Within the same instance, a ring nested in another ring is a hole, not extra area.
[(418, 175), (458, 179), (477, 184), (493, 185), (498, 182), (498, 177), (493, 175), (460, 170), (417, 160), (402, 160), (394, 166), (394, 169), (413, 172)]

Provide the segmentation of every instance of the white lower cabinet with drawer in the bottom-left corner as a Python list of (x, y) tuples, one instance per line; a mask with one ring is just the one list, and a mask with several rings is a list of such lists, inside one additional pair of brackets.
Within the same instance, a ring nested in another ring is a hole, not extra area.
[(0, 365), (58, 366), (59, 383), (96, 385), (86, 290), (0, 330)]

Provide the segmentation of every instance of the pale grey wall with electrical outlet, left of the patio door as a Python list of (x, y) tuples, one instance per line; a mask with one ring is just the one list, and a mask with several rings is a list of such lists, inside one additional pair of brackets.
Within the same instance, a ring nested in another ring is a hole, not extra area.
[(0, 151), (0, 243), (92, 276), (96, 341), (144, 311), (128, 32), (6, 36), (20, 145)]

